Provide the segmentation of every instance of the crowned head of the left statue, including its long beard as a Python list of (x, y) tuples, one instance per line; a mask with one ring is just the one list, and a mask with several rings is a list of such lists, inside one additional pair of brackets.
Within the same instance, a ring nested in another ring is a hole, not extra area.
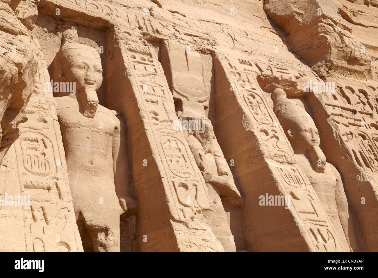
[[(74, 28), (62, 33), (60, 49), (54, 59), (53, 82), (73, 82), (74, 95), (82, 100), (84, 115), (93, 118), (98, 106), (96, 91), (102, 84), (101, 59), (95, 48), (77, 43)], [(70, 85), (71, 86), (71, 85)], [(72, 92), (56, 92), (54, 96), (72, 95)], [(62, 87), (60, 87), (62, 88)]]

